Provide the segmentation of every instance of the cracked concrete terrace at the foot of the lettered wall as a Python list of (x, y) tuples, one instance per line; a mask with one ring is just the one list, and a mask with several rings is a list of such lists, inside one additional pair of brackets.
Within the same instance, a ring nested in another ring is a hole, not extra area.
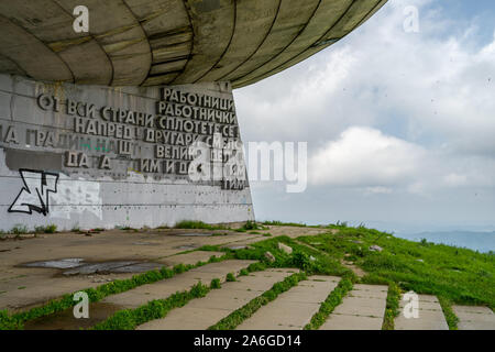
[[(187, 252), (191, 246), (245, 245), (245, 242), (266, 240), (263, 233), (273, 235), (318, 233), (324, 230), (277, 227), (257, 234), (221, 231), (227, 235), (184, 237), (184, 233), (212, 233), (204, 230), (111, 230), (86, 237), (79, 233), (43, 234), (29, 240), (0, 241), (0, 309), (19, 311), (41, 305), (50, 299), (79, 289), (97, 287), (103, 282), (132, 277), (124, 270), (118, 273), (87, 273), (66, 276), (63, 268), (25, 267), (23, 264), (82, 258), (86, 263), (139, 262), (173, 266), (179, 263), (207, 262), (215, 252)], [(217, 233), (220, 231), (213, 231)], [(69, 263), (70, 264), (70, 263)], [(67, 265), (65, 265), (67, 266)], [(70, 266), (70, 265), (69, 265)]]

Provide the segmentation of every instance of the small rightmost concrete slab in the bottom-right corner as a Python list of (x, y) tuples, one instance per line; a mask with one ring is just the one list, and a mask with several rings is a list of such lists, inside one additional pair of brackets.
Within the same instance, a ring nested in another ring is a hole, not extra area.
[(495, 330), (495, 314), (488, 307), (452, 306), (459, 330)]

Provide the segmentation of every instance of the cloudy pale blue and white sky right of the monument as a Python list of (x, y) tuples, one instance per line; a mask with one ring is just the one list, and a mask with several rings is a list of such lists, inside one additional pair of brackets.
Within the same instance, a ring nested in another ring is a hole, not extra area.
[[(404, 10), (419, 10), (406, 32)], [(234, 91), (244, 143), (307, 141), (308, 187), (252, 183), (258, 220), (495, 229), (495, 2), (389, 0), (304, 63)]]

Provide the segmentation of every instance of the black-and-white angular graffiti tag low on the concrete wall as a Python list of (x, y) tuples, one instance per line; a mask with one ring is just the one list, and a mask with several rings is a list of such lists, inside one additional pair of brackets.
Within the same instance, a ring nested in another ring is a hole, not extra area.
[(57, 193), (58, 174), (32, 169), (20, 169), (24, 187), (9, 208), (9, 212), (32, 215), (33, 211), (46, 217), (50, 212), (50, 194)]

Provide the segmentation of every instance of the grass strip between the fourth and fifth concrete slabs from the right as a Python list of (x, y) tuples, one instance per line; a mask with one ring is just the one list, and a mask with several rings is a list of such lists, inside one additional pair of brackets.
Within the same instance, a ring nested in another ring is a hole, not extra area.
[(233, 330), (240, 326), (244, 320), (250, 318), (261, 307), (267, 305), (276, 299), (278, 295), (285, 293), (292, 287), (296, 286), (300, 280), (306, 279), (306, 274), (297, 273), (286, 277), (283, 282), (276, 283), (273, 287), (263, 293), (261, 296), (252, 299), (242, 308), (234, 310), (228, 317), (223, 318), (208, 330)]

